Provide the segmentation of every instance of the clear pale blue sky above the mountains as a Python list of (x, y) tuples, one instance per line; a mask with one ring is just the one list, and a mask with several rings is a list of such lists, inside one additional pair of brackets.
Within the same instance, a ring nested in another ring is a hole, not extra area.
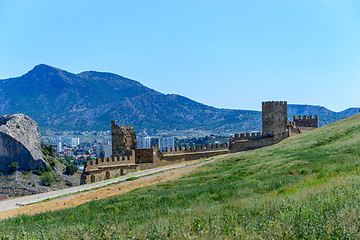
[(359, 0), (0, 0), (0, 79), (45, 63), (215, 107), (360, 105)]

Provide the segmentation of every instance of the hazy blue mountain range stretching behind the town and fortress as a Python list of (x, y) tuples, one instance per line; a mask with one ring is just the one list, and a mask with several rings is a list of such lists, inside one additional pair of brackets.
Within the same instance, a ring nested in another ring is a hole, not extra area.
[[(290, 115), (318, 114), (322, 124), (358, 111), (336, 113), (320, 106), (289, 105)], [(0, 80), (0, 114), (10, 113), (27, 114), (42, 129), (105, 130), (110, 128), (111, 120), (148, 132), (204, 129), (234, 133), (261, 129), (259, 111), (218, 109), (183, 96), (162, 94), (116, 74), (73, 74), (44, 64), (21, 77)]]

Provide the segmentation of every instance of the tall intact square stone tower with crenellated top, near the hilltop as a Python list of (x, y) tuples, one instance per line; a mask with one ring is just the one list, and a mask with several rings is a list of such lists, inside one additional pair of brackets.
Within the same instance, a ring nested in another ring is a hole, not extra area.
[(262, 103), (262, 131), (279, 134), (287, 129), (287, 102), (272, 101)]

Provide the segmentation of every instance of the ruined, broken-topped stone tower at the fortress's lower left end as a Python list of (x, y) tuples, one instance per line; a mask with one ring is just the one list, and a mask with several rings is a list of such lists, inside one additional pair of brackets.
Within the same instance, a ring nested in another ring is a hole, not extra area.
[(112, 156), (129, 156), (137, 148), (136, 133), (133, 127), (118, 126), (111, 121)]

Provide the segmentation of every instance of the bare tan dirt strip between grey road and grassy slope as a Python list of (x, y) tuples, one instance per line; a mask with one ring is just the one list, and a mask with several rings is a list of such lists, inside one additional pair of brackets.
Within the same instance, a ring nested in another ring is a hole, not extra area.
[(89, 202), (93, 200), (99, 200), (112, 196), (117, 196), (129, 192), (135, 188), (140, 188), (140, 187), (180, 178), (188, 174), (195, 168), (202, 166), (206, 163), (212, 162), (216, 159), (218, 159), (218, 157), (212, 159), (211, 161), (198, 162), (197, 164), (174, 168), (172, 170), (158, 173), (156, 175), (145, 176), (133, 180), (131, 182), (122, 182), (111, 186), (103, 187), (97, 190), (91, 190), (89, 192), (79, 193), (76, 195), (63, 197), (61, 199), (52, 200), (49, 202), (35, 203), (32, 205), (26, 205), (20, 208), (15, 208), (8, 211), (0, 212), (0, 219), (11, 218), (19, 214), (33, 215), (36, 213), (41, 213), (46, 211), (56, 211), (60, 209), (75, 207), (85, 202)]

